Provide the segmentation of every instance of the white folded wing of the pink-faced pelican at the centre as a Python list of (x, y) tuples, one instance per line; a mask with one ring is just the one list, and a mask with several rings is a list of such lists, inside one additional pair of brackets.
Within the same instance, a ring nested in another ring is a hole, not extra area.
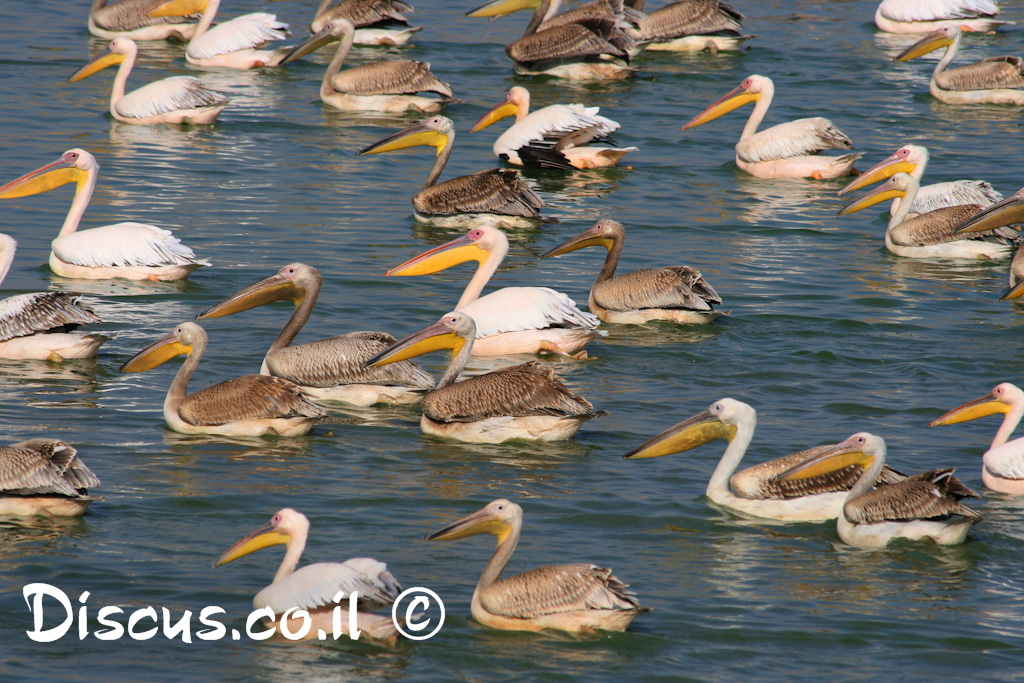
[(596, 315), (577, 308), (575, 301), (547, 287), (505, 287), (460, 310), (476, 323), (477, 339), (547, 328), (596, 330), (601, 325)]

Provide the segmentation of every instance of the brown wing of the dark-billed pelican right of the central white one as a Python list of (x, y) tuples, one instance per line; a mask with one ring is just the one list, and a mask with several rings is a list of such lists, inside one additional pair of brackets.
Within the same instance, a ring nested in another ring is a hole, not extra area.
[(711, 310), (722, 303), (718, 292), (703, 275), (686, 265), (645, 268), (596, 283), (594, 301), (608, 310), (640, 308), (689, 308)]

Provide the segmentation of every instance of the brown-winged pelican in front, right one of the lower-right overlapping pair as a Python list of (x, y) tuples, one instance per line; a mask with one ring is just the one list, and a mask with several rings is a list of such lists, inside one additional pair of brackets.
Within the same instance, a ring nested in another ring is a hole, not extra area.
[(955, 546), (981, 521), (981, 515), (961, 503), (978, 496), (953, 477), (953, 468), (922, 472), (872, 489), (885, 463), (885, 439), (858, 432), (794, 466), (782, 478), (800, 480), (850, 465), (863, 467), (836, 522), (839, 538), (858, 548), (885, 548), (893, 539)]

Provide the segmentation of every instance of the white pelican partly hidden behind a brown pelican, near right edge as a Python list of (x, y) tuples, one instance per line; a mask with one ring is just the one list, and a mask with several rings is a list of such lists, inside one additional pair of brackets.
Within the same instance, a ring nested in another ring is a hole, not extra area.
[[(839, 196), (842, 197), (854, 189), (860, 189), (880, 180), (885, 180), (896, 173), (908, 173), (920, 183), (927, 167), (928, 147), (920, 144), (904, 144), (891, 156), (850, 181), (846, 187), (839, 190)], [(930, 185), (921, 185), (918, 188), (918, 196), (910, 207), (910, 213), (928, 213), (936, 209), (959, 206), (962, 204), (977, 204), (978, 206), (985, 207), (1001, 199), (1002, 195), (984, 180), (935, 182)], [(890, 214), (896, 213), (899, 203), (900, 199), (898, 197), (893, 200), (889, 211)]]

